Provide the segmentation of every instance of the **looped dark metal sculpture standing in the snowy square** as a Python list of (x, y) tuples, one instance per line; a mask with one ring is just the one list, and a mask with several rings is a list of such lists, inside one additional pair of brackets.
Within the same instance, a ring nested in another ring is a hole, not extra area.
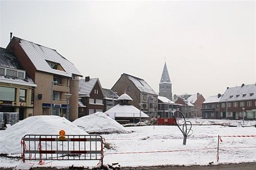
[[(181, 117), (184, 119), (184, 123), (182, 125), (182, 129), (180, 128), (179, 124), (177, 124), (177, 120), (175, 118), (175, 112), (177, 112), (177, 117), (179, 117), (179, 114), (181, 114)], [(180, 129), (181, 133), (183, 134), (183, 145), (186, 145), (187, 142), (187, 137), (189, 135), (192, 135), (193, 130), (192, 130), (192, 123), (191, 121), (186, 121), (184, 114), (182, 112), (179, 111), (179, 109), (175, 110), (173, 112), (174, 120), (175, 120), (175, 124), (177, 125), (177, 127)]]

